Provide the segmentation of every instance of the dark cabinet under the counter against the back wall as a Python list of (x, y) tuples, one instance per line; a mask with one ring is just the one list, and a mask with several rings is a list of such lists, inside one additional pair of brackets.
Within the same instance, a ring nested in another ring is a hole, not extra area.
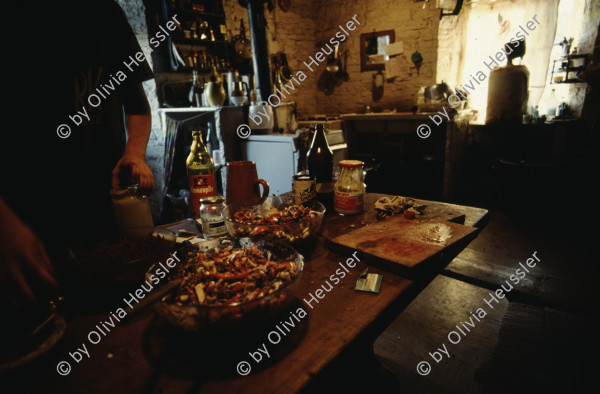
[[(348, 157), (371, 167), (367, 190), (425, 199), (449, 200), (455, 187), (466, 121), (432, 124), (428, 115), (342, 115)], [(417, 127), (431, 127), (428, 138)]]

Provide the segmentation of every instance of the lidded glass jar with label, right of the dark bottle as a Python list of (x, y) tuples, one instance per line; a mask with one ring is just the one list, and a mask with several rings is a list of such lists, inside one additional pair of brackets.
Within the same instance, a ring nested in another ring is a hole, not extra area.
[(340, 175), (334, 186), (335, 211), (342, 215), (357, 215), (364, 211), (366, 188), (363, 163), (359, 160), (338, 162)]

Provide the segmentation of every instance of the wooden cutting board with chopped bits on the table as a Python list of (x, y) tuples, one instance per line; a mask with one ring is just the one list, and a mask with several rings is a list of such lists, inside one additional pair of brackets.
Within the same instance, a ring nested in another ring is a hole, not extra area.
[(475, 238), (476, 228), (449, 222), (450, 218), (452, 214), (430, 219), (388, 217), (333, 237), (329, 245), (346, 254), (359, 251), (367, 263), (384, 263), (382, 268), (403, 273)]

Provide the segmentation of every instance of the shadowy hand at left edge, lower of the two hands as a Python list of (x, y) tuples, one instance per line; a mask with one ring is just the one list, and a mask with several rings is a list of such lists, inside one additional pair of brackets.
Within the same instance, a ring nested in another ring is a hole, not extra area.
[[(44, 245), (0, 199), (0, 284), (14, 305), (35, 302), (33, 280), (56, 287)], [(36, 289), (37, 290), (37, 289)]]

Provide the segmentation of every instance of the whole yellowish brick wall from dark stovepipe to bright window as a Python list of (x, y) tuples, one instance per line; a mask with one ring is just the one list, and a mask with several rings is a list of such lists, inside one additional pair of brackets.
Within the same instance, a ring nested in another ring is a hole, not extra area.
[[(234, 35), (239, 33), (240, 18), (244, 18), (248, 26), (248, 13), (237, 0), (225, 0), (224, 9), (227, 28)], [(310, 61), (309, 56), (314, 57), (320, 49), (317, 44), (328, 41), (339, 29), (338, 25), (346, 23), (354, 15), (361, 25), (350, 32), (350, 37), (344, 42), (348, 50), (349, 80), (327, 96), (317, 91), (317, 81), (325, 71), (325, 64), (321, 64), (314, 73), (308, 72), (300, 89), (290, 97), (298, 103), (299, 116), (356, 112), (365, 105), (408, 110), (414, 105), (419, 87), (435, 82), (440, 11), (431, 3), (423, 9), (423, 3), (414, 0), (297, 0), (292, 2), (287, 13), (276, 8), (273, 13), (267, 14), (270, 52), (284, 51), (292, 70), (307, 72), (302, 62)], [(378, 102), (373, 102), (371, 93), (374, 73), (360, 71), (360, 34), (374, 30), (394, 30), (396, 41), (404, 43), (409, 62), (417, 48), (424, 58), (419, 75), (413, 68), (410, 75), (386, 81), (383, 98)]]

